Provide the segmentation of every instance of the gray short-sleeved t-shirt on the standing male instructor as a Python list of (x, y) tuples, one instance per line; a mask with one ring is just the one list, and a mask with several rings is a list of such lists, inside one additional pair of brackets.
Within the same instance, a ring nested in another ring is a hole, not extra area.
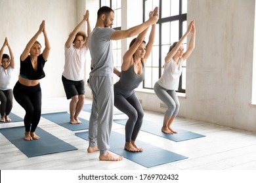
[(89, 36), (89, 50), (91, 53), (93, 71), (90, 76), (112, 76), (113, 54), (110, 37), (114, 29), (95, 27)]

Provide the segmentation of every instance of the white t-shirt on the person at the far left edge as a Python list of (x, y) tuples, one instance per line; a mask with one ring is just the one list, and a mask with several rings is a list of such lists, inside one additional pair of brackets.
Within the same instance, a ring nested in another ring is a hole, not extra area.
[(3, 66), (0, 66), (0, 90), (10, 90), (12, 73), (14, 69), (9, 65), (7, 69), (4, 69)]

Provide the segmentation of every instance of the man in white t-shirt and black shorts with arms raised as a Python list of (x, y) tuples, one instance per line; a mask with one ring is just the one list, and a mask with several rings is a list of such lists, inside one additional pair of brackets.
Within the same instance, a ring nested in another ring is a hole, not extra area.
[[(83, 22), (87, 22), (87, 35), (79, 31)], [(70, 33), (65, 43), (65, 65), (62, 73), (62, 83), (67, 99), (70, 101), (70, 124), (81, 124), (79, 113), (85, 101), (84, 67), (88, 50), (87, 37), (91, 34), (89, 11), (83, 15), (83, 20)]]

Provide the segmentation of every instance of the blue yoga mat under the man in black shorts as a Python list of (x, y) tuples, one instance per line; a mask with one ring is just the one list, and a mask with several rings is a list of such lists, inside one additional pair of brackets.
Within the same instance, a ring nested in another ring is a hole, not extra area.
[(70, 114), (68, 114), (68, 112), (54, 112), (48, 114), (41, 114), (41, 116), (43, 118), (46, 118), (47, 120), (50, 120), (51, 122), (61, 125), (62, 127), (66, 127), (71, 131), (89, 128), (89, 121), (83, 118), (79, 118), (79, 120), (82, 122), (81, 124), (70, 124)]

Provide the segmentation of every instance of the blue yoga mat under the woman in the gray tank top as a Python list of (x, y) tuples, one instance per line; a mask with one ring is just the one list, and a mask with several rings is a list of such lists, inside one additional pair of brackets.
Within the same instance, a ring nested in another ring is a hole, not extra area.
[[(88, 131), (75, 133), (75, 135), (77, 137), (81, 137), (82, 139), (89, 141)], [(110, 151), (119, 154), (119, 156), (123, 156), (124, 158), (127, 158), (147, 168), (187, 158), (180, 154), (176, 154), (174, 152), (170, 152), (168, 150), (152, 146), (151, 144), (142, 141), (136, 142), (138, 146), (143, 148), (143, 151), (128, 152), (127, 150), (123, 149), (123, 146), (125, 144), (125, 135), (112, 131), (110, 135)]]

